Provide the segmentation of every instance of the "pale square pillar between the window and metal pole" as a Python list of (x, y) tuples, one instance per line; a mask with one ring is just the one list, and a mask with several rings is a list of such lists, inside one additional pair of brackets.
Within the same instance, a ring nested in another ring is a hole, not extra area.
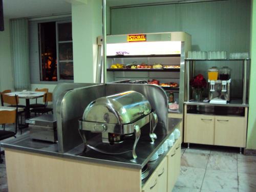
[(72, 4), (74, 82), (95, 82), (97, 36), (102, 35), (101, 0)]

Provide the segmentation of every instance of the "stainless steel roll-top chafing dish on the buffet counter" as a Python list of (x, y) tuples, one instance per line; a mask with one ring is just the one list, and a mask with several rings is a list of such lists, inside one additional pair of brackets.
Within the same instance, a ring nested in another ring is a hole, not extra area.
[[(157, 122), (157, 114), (144, 95), (136, 91), (127, 91), (92, 101), (79, 120), (79, 132), (86, 146), (96, 151), (107, 154), (132, 151), (133, 158), (137, 158), (135, 150), (141, 136), (141, 128), (148, 125), (148, 138), (154, 142)], [(101, 134), (101, 145), (97, 142), (90, 144), (89, 141), (93, 140), (95, 135), (86, 134), (86, 131)], [(115, 150), (114, 145), (125, 142), (125, 138), (130, 136), (135, 136), (132, 148), (120, 145), (118, 150)]]

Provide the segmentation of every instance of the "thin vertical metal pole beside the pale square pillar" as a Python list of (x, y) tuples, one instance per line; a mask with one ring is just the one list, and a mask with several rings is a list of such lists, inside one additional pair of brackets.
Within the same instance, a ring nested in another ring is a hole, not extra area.
[(102, 0), (102, 78), (101, 82), (106, 82), (106, 0)]

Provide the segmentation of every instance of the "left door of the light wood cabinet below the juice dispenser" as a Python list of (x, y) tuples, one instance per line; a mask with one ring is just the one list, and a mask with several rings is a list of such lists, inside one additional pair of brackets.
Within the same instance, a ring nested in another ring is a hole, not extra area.
[(214, 144), (215, 116), (186, 114), (185, 138), (187, 143)]

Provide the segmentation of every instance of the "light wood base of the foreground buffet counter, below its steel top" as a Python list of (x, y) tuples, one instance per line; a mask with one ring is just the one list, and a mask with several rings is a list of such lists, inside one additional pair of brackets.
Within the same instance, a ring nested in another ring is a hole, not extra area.
[[(180, 174), (181, 138), (142, 186), (141, 169), (90, 163), (7, 148), (9, 192), (171, 192)], [(151, 166), (155, 166), (154, 162)], [(155, 187), (154, 190), (153, 187)]]

